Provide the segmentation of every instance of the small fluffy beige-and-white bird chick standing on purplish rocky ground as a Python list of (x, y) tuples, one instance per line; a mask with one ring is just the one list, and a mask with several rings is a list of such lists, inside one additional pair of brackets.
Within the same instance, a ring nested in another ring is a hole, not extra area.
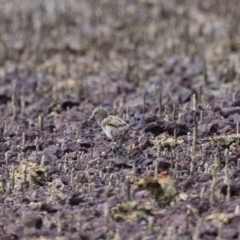
[(121, 138), (122, 143), (124, 137), (129, 132), (128, 124), (119, 117), (109, 115), (106, 108), (95, 108), (90, 119), (93, 118), (101, 126), (107, 137), (113, 142), (115, 142), (118, 138)]

